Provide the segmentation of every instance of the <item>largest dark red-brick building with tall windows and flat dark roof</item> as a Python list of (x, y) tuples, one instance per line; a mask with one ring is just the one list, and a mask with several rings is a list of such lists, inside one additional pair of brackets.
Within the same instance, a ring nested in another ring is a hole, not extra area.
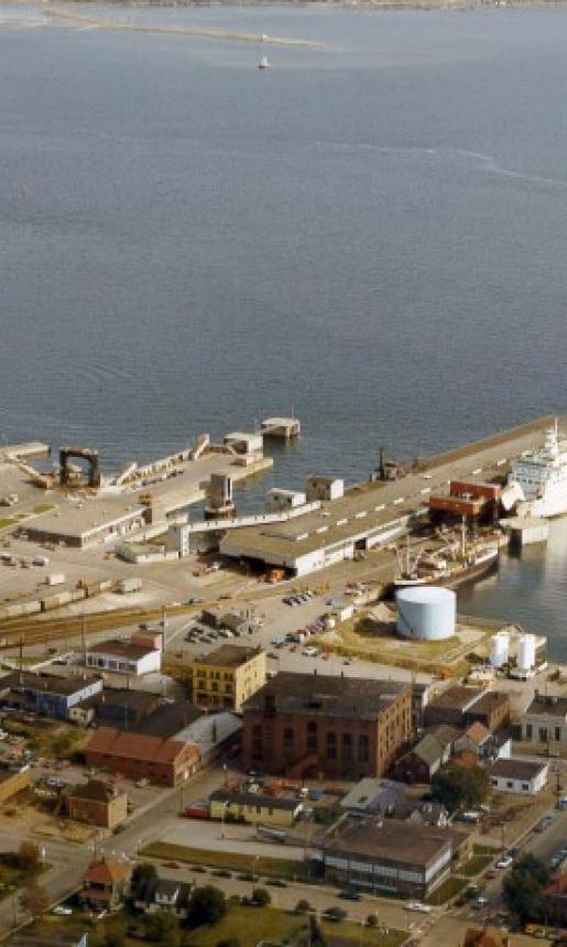
[(382, 776), (412, 736), (411, 687), (282, 673), (243, 706), (244, 769)]

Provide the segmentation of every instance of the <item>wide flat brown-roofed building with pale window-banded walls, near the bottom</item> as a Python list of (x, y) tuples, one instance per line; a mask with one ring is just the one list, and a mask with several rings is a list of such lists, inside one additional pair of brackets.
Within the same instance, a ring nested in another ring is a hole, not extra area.
[(374, 894), (426, 897), (450, 872), (452, 842), (441, 828), (345, 815), (321, 840), (325, 880)]

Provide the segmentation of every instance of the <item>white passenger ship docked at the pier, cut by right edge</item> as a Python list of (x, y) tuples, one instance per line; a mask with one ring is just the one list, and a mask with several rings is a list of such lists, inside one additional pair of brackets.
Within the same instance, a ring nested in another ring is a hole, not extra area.
[(561, 516), (567, 513), (567, 442), (559, 438), (557, 421), (545, 444), (525, 450), (512, 461), (510, 485), (516, 485), (522, 516)]

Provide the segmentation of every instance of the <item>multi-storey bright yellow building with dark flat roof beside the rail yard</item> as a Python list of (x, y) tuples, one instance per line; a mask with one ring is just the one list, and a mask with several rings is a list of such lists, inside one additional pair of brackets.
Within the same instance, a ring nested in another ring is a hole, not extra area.
[(240, 710), (265, 684), (265, 651), (221, 644), (188, 665), (189, 699), (207, 709)]

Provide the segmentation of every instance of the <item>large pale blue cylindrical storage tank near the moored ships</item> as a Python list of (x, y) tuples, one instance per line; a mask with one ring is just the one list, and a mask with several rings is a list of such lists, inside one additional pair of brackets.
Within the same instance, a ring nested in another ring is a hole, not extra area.
[(440, 641), (455, 634), (457, 596), (450, 589), (418, 586), (400, 589), (397, 633), (416, 641)]

